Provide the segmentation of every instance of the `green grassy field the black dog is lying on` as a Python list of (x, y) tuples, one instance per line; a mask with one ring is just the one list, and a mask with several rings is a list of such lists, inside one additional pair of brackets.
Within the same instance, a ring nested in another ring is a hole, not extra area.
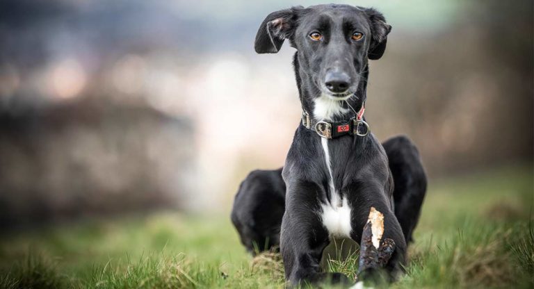
[[(393, 288), (533, 288), (532, 167), (431, 180)], [(355, 276), (355, 257), (326, 270)], [(0, 238), (0, 288), (284, 288), (279, 256), (245, 254), (228, 215), (50, 226)]]

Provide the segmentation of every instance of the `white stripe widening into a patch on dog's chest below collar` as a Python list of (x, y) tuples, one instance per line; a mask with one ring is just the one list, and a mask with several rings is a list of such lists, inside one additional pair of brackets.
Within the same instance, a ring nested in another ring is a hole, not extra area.
[(325, 152), (325, 163), (328, 168), (328, 185), (330, 187), (330, 204), (323, 204), (321, 219), (323, 226), (328, 231), (330, 237), (336, 238), (350, 238), (350, 206), (348, 206), (347, 198), (339, 197), (339, 192), (332, 181), (332, 163), (330, 162), (330, 151), (328, 150), (328, 140), (321, 138), (321, 145)]

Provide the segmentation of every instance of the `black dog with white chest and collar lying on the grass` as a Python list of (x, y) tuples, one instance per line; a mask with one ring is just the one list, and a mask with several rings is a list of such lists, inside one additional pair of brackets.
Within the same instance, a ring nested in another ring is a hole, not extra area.
[(259, 249), (277, 245), (281, 228), (286, 279), (293, 284), (346, 281), (319, 272), (321, 254), (331, 238), (359, 242), (371, 207), (384, 215), (383, 238), (396, 244), (385, 269), (394, 276), (405, 262), (426, 176), (410, 140), (397, 137), (382, 147), (363, 117), (368, 60), (382, 56), (390, 30), (371, 8), (322, 5), (271, 13), (257, 33), (258, 53), (276, 53), (286, 39), (297, 49), (304, 113), (282, 172), (285, 202), (280, 172), (257, 171), (243, 181), (232, 221), (248, 249), (254, 242)]

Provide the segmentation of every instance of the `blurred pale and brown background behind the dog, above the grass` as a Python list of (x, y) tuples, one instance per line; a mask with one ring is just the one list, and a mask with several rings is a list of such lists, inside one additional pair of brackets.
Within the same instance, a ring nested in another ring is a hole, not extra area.
[[(294, 49), (257, 55), (257, 28), (314, 3), (1, 1), (0, 228), (228, 213), (300, 122)], [(532, 166), (532, 1), (346, 3), (393, 26), (366, 104), (380, 140), (409, 135), (430, 182)]]

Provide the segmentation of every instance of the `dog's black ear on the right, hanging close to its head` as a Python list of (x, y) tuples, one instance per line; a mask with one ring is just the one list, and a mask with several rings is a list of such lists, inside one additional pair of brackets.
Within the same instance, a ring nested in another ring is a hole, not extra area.
[(391, 25), (386, 23), (386, 19), (382, 13), (373, 8), (366, 8), (365, 12), (369, 17), (372, 34), (367, 56), (371, 60), (377, 60), (382, 57), (386, 50), (387, 35), (391, 31)]

